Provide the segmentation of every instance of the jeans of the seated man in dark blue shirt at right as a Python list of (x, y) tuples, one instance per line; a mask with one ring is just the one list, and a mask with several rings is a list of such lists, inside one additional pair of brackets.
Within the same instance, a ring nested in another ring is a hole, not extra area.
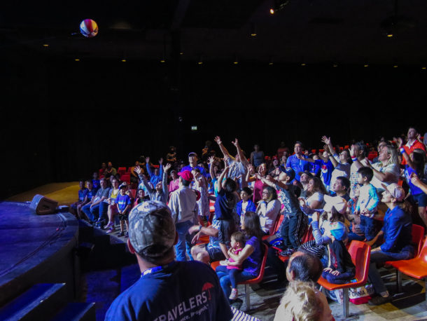
[(387, 291), (386, 285), (384, 285), (377, 269), (377, 262), (400, 261), (412, 259), (412, 257), (414, 257), (414, 247), (412, 247), (412, 245), (403, 247), (398, 253), (383, 251), (372, 252), (369, 265), (369, 278), (374, 286), (375, 292), (381, 294)]

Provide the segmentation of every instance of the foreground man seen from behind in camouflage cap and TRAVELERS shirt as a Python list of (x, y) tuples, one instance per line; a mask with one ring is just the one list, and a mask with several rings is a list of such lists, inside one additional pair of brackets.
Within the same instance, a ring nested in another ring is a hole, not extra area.
[(174, 261), (178, 240), (169, 207), (149, 200), (129, 216), (127, 246), (141, 278), (111, 304), (105, 320), (230, 320), (232, 312), (214, 270)]

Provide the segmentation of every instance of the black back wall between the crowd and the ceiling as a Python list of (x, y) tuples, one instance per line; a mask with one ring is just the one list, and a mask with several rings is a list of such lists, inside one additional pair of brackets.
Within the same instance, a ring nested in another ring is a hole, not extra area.
[[(178, 67), (177, 67), (178, 66)], [(244, 62), (120, 62), (31, 55), (3, 60), (2, 197), (90, 177), (102, 162), (186, 158), (221, 135), (234, 153), (283, 140), (321, 148), (426, 130), (424, 70)], [(179, 119), (182, 119), (180, 121)], [(197, 125), (197, 131), (190, 126)]]

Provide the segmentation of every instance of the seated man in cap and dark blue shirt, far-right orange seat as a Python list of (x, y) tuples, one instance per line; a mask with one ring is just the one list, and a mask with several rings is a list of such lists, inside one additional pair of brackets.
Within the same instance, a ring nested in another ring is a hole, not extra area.
[(414, 247), (411, 244), (412, 219), (403, 206), (405, 191), (395, 183), (388, 186), (382, 184), (382, 187), (385, 191), (381, 202), (388, 207), (384, 216), (384, 226), (372, 240), (367, 242), (368, 245), (374, 246), (379, 237), (382, 236), (384, 239), (381, 246), (371, 250), (369, 278), (379, 296), (369, 301), (370, 306), (379, 306), (392, 300), (377, 270), (377, 262), (407, 260), (414, 257)]

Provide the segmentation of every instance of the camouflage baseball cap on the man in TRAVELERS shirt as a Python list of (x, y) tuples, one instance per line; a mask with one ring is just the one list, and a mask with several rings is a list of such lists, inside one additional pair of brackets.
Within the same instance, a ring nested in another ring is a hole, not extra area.
[(129, 240), (143, 257), (162, 257), (175, 241), (171, 210), (157, 200), (141, 203), (129, 214)]

